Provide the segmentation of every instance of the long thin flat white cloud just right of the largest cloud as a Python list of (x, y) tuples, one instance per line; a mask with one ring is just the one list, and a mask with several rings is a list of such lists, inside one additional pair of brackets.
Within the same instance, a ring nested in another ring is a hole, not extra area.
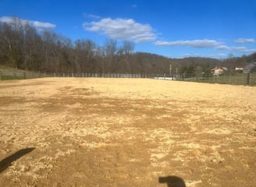
[(158, 46), (188, 46), (191, 48), (211, 48), (220, 45), (219, 41), (214, 40), (194, 40), (194, 41), (156, 41)]

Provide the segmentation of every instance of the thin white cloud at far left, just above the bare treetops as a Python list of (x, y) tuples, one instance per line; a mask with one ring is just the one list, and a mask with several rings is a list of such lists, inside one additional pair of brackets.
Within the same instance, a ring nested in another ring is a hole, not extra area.
[[(0, 17), (0, 22), (2, 23), (12, 23), (13, 17), (9, 16), (2, 16)], [(19, 19), (22, 24), (30, 23), (31, 26), (36, 27), (39, 30), (44, 30), (44, 29), (54, 29), (55, 24), (52, 23), (47, 23), (47, 22), (38, 22), (38, 21), (31, 21), (27, 19)]]

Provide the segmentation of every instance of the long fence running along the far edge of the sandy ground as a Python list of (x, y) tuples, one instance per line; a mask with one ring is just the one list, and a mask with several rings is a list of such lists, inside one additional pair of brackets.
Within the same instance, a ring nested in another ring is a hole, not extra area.
[(31, 73), (31, 72), (0, 72), (0, 80), (34, 79), (41, 77), (105, 77), (105, 78), (153, 78), (199, 83), (223, 83), (256, 86), (256, 73), (230, 73), (220, 76), (183, 74), (170, 76), (167, 74), (124, 74), (124, 73)]

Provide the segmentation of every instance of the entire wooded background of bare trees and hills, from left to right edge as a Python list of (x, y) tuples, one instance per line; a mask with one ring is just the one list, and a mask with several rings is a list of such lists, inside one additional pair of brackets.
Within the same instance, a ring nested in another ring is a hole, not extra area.
[(226, 65), (245, 65), (255, 55), (242, 58), (165, 58), (143, 52), (133, 53), (134, 44), (108, 39), (103, 46), (90, 39), (71, 41), (52, 30), (37, 30), (29, 22), (13, 17), (0, 22), (0, 65), (35, 72), (88, 72), (172, 74), (198, 73)]

